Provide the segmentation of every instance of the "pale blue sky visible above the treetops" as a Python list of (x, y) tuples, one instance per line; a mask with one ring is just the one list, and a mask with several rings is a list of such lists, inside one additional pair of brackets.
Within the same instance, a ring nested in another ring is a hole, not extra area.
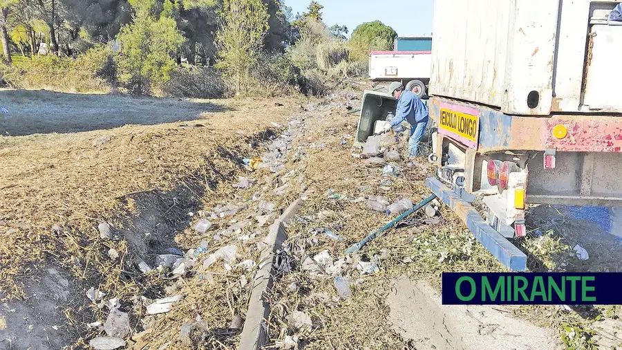
[[(316, 0), (324, 6), (322, 18), (328, 26), (348, 26), (349, 34), (364, 22), (376, 19), (392, 27), (397, 35), (430, 35), (434, 0)], [(283, 0), (292, 12), (302, 14), (311, 0)]]

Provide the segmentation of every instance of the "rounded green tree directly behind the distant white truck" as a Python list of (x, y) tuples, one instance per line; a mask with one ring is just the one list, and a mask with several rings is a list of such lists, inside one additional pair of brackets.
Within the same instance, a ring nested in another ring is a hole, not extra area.
[(366, 61), (370, 51), (390, 50), (395, 38), (397, 38), (395, 30), (381, 21), (361, 24), (352, 32), (352, 37), (348, 42), (350, 59)]

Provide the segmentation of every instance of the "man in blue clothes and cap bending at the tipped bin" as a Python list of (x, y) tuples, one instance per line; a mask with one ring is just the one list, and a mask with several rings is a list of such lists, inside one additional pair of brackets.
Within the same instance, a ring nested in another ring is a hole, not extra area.
[(390, 131), (393, 127), (408, 121), (411, 125), (411, 138), (408, 139), (408, 155), (417, 156), (419, 144), (428, 125), (428, 107), (413, 91), (404, 91), (399, 82), (392, 82), (389, 86), (391, 95), (397, 99), (395, 117), (384, 127), (384, 131)]

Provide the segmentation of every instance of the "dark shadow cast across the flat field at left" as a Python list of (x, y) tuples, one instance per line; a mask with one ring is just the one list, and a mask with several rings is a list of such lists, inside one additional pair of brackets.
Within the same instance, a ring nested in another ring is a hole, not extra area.
[(211, 102), (174, 98), (133, 98), (125, 95), (3, 90), (0, 134), (73, 133), (113, 129), (123, 125), (156, 125), (198, 119), (202, 113), (227, 110)]

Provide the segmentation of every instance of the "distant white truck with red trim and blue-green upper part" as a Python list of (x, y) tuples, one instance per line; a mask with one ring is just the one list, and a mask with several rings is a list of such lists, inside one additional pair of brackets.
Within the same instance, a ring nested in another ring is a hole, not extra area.
[(401, 82), (405, 89), (424, 97), (430, 81), (431, 48), (431, 37), (398, 37), (393, 51), (370, 52), (370, 80)]

